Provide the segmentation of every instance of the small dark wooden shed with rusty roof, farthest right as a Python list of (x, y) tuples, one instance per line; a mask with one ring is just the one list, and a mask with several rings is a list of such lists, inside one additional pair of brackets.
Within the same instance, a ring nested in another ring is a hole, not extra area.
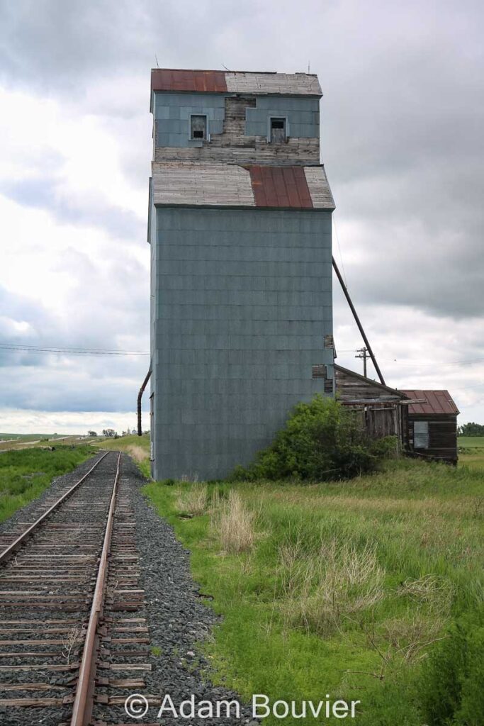
[[(402, 391), (415, 403), (409, 406), (409, 452), (419, 457), (457, 463), (459, 409), (448, 391)], [(419, 401), (419, 402), (417, 402)]]

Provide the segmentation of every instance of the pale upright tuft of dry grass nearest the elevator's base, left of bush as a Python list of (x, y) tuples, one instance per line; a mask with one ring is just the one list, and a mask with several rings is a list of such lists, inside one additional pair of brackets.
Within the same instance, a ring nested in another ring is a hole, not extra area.
[(257, 513), (247, 508), (238, 492), (231, 489), (223, 499), (215, 492), (210, 514), (212, 529), (216, 531), (222, 550), (246, 552), (253, 547)]

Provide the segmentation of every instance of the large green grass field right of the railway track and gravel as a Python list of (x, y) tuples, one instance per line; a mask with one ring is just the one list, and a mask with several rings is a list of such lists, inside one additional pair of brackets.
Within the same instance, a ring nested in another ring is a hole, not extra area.
[[(356, 698), (359, 726), (421, 726), (419, 674), (435, 648), (423, 644), (482, 601), (483, 470), (403, 460), (351, 481), (211, 484), (206, 513), (188, 519), (200, 485), (148, 484), (223, 615), (203, 645), (211, 677), (247, 699)], [(256, 516), (255, 545), (234, 554), (213, 515), (229, 490)], [(359, 571), (372, 564), (368, 582), (350, 583), (352, 558)]]

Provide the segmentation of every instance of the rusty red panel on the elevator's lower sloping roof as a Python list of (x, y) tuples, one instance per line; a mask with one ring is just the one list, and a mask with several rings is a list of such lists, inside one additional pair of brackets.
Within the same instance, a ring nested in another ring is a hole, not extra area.
[(256, 207), (312, 209), (303, 166), (247, 166)]

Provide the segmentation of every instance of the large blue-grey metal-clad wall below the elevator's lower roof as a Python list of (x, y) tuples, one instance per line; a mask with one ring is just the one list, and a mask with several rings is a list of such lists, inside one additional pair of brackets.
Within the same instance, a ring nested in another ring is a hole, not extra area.
[(331, 213), (157, 208), (156, 478), (248, 464), (333, 376)]

